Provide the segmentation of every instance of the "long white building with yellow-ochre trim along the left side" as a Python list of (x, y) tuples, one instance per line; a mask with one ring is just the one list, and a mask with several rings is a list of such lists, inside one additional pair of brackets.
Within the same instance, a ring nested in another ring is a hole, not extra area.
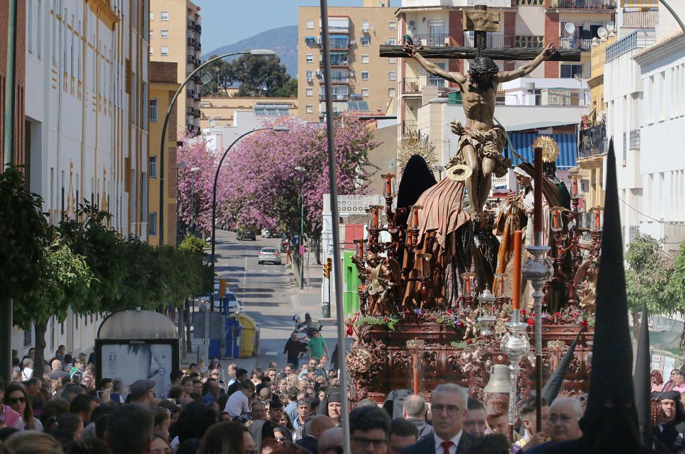
[[(147, 238), (148, 1), (26, 0), (26, 164), (51, 223), (84, 199)], [(95, 318), (48, 325), (47, 353), (94, 344)], [(13, 346), (30, 344), (16, 331)]]

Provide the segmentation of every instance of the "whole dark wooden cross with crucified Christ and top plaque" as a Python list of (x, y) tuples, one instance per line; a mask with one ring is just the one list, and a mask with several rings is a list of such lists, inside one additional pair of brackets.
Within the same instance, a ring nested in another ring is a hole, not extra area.
[[(519, 79), (530, 74), (545, 60), (580, 61), (580, 51), (558, 51), (548, 45), (539, 52), (536, 49), (488, 49), (488, 31), (500, 30), (499, 12), (488, 12), (485, 5), (475, 10), (464, 11), (464, 29), (474, 32), (475, 47), (428, 47), (412, 42), (405, 36), (404, 46), (381, 46), (381, 57), (414, 58), (430, 74), (442, 77), (456, 84), (462, 92), (462, 105), (466, 114), (466, 125), (459, 121), (451, 123), (451, 130), (460, 136), (457, 154), (447, 168), (460, 165), (468, 167), (464, 175), (466, 189), (471, 199), (471, 216), (482, 212), (492, 186), (493, 173), (502, 177), (508, 172), (511, 162), (503, 157), (506, 131), (496, 126), (495, 94), (502, 82)], [(468, 76), (446, 71), (426, 58), (468, 58), (473, 59)], [(499, 71), (494, 60), (529, 60), (514, 71)]]

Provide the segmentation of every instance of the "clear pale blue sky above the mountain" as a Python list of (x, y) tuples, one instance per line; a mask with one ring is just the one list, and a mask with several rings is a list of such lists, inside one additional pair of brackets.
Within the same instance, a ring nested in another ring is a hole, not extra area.
[[(201, 8), (202, 49), (223, 45), (286, 25), (297, 25), (298, 6), (319, 0), (194, 0)], [(328, 0), (328, 6), (361, 6), (362, 0)]]

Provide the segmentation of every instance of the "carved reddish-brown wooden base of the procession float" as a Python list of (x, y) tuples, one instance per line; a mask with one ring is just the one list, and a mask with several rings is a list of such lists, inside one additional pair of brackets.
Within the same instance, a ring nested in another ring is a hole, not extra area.
[[(363, 325), (347, 356), (347, 368), (353, 383), (352, 400), (371, 398), (384, 401), (392, 390), (412, 389), (412, 357), (407, 341), (425, 341), (421, 349), (421, 394), (429, 396), (439, 383), (457, 383), (469, 394), (482, 399), (493, 364), (508, 364), (499, 348), (499, 338), (479, 337), (462, 341), (464, 329), (439, 323), (397, 323), (391, 330), (385, 325)], [(534, 344), (534, 327), (527, 329)], [(543, 325), (543, 379), (556, 369), (569, 344), (582, 329), (580, 325)], [(573, 360), (566, 372), (560, 394), (580, 395), (588, 390), (590, 359), (595, 336), (587, 327), (580, 336)], [(531, 362), (532, 360), (532, 362)], [(533, 352), (521, 362), (519, 399), (530, 396), (535, 388)], [(544, 385), (544, 383), (543, 383)]]

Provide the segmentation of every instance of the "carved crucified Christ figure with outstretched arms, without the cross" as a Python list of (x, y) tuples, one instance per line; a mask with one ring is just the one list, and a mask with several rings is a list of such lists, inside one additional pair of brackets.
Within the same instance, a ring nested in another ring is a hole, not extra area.
[(502, 82), (518, 79), (530, 74), (540, 63), (549, 60), (556, 52), (550, 44), (535, 60), (520, 66), (514, 71), (499, 71), (497, 64), (489, 57), (473, 60), (469, 68), (469, 77), (461, 73), (451, 73), (426, 60), (419, 51), (422, 46), (407, 42), (404, 50), (412, 56), (426, 71), (452, 81), (462, 92), (462, 105), (466, 114), (466, 126), (459, 121), (451, 123), (454, 134), (460, 136), (457, 154), (447, 168), (455, 164), (466, 164), (471, 168), (471, 176), (466, 179), (466, 189), (471, 199), (471, 217), (477, 216), (485, 205), (490, 194), (492, 174), (503, 177), (511, 162), (502, 155), (506, 142), (506, 132), (501, 126), (495, 126), (495, 93)]

